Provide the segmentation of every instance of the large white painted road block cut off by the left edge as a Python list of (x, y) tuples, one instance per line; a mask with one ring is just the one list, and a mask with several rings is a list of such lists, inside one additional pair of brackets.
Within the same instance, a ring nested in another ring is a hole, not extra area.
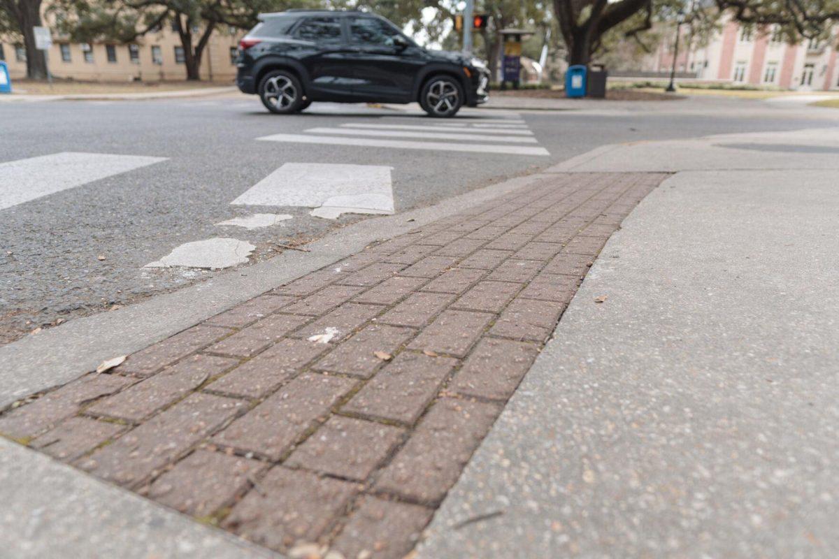
[(62, 152), (0, 163), (0, 210), (165, 160), (139, 155)]

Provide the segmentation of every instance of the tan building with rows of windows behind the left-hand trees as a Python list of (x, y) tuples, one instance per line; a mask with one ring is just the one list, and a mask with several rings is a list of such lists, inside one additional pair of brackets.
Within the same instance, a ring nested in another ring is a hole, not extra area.
[[(48, 24), (48, 23), (44, 23)], [(245, 32), (217, 28), (201, 56), (201, 79), (231, 81), (236, 76), (233, 58)], [(185, 80), (184, 49), (180, 36), (169, 26), (161, 27), (131, 44), (71, 43), (53, 33), (47, 53), (50, 73), (56, 78), (78, 81), (171, 81)], [(26, 75), (26, 52), (21, 44), (0, 38), (0, 60), (13, 79)]]

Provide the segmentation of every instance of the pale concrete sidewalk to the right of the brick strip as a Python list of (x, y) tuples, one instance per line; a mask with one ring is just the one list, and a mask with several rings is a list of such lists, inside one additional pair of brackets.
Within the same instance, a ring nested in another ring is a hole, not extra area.
[(420, 557), (839, 555), (837, 142), (638, 143), (555, 168), (677, 174), (607, 243)]

